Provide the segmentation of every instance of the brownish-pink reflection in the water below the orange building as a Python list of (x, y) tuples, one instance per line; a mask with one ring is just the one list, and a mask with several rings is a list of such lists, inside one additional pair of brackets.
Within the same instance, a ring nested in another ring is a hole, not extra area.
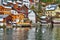
[(26, 28), (17, 28), (13, 31), (13, 40), (26, 40), (28, 31)]

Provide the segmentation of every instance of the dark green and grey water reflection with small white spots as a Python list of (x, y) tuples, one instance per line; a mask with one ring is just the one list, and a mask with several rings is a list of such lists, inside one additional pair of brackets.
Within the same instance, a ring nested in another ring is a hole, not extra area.
[(38, 32), (36, 33), (36, 40), (52, 40), (52, 31), (48, 25), (44, 24), (38, 28)]

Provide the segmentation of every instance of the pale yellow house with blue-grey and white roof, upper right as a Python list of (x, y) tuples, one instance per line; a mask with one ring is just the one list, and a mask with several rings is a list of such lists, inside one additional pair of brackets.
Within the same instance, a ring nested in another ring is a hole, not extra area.
[(56, 17), (60, 12), (60, 8), (57, 4), (47, 5), (45, 8), (45, 14), (47, 16)]

